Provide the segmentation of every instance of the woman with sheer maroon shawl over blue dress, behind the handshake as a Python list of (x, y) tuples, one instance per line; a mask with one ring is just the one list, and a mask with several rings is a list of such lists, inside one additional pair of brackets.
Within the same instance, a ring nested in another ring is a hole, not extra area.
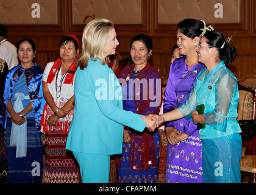
[[(119, 74), (124, 110), (139, 115), (159, 113), (162, 104), (162, 82), (157, 69), (150, 65), (152, 40), (144, 34), (133, 37), (130, 44), (133, 64)], [(142, 133), (125, 127), (123, 154), (118, 166), (120, 183), (158, 182), (158, 132)]]

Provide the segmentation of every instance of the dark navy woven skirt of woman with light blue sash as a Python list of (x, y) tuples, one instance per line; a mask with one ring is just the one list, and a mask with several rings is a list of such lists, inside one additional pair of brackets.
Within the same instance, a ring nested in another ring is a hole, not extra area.
[(6, 154), (9, 183), (41, 183), (43, 176), (43, 143), (34, 118), (27, 118), (27, 156), (16, 158), (16, 146), (10, 146), (12, 122), (7, 117)]

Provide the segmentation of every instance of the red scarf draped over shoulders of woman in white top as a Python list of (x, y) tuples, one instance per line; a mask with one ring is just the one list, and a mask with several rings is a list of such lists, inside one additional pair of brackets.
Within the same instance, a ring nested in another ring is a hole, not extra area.
[[(54, 77), (56, 75), (56, 73), (58, 72), (60, 66), (62, 65), (62, 59), (59, 58), (54, 62), (54, 65), (51, 68), (51, 71), (49, 73), (48, 79), (47, 79), (47, 83), (52, 83), (52, 81), (54, 80)], [(73, 85), (73, 81), (74, 81), (74, 73), (76, 72), (77, 67), (76, 67), (76, 60), (72, 63), (72, 65), (69, 68), (69, 72), (68, 74), (66, 74), (65, 80), (63, 83), (65, 84), (72, 84)]]

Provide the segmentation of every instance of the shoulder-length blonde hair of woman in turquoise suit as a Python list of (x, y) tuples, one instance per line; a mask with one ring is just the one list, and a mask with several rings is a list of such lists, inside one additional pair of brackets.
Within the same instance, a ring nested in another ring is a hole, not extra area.
[(104, 18), (93, 19), (87, 24), (82, 37), (82, 52), (77, 59), (77, 66), (80, 66), (80, 69), (87, 68), (91, 57), (93, 60), (101, 60), (102, 65), (108, 63), (109, 57), (104, 57), (103, 50), (113, 27), (114, 24)]

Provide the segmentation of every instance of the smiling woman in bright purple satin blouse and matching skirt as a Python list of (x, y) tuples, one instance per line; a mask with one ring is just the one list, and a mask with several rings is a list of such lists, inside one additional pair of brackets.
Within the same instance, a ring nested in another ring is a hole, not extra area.
[[(185, 104), (197, 75), (205, 68), (197, 62), (196, 48), (206, 32), (204, 21), (184, 19), (178, 24), (177, 45), (181, 55), (171, 64), (164, 96), (164, 113)], [(202, 143), (199, 131), (185, 118), (165, 123), (167, 133), (166, 176), (168, 183), (202, 183)], [(179, 140), (179, 144), (176, 144)]]

